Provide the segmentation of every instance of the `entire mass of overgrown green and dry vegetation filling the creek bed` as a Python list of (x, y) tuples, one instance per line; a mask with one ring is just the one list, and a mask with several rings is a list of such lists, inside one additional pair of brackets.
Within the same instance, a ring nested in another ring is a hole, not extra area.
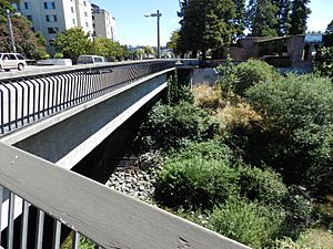
[(226, 66), (228, 87), (195, 87), (193, 102), (173, 77), (149, 114), (141, 138), (163, 156), (155, 201), (253, 248), (320, 248), (303, 238), (333, 238), (332, 216), (315, 205), (332, 184), (331, 82), (251, 61), (238, 66), (269, 76), (236, 92), (244, 80)]

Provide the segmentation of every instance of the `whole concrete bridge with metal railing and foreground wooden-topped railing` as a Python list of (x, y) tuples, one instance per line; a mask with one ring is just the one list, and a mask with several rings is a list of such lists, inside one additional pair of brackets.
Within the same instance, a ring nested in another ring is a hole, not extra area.
[(246, 248), (68, 170), (165, 89), (174, 68), (155, 60), (0, 76), (0, 246), (27, 248), (33, 206), (37, 249), (46, 248), (44, 214), (54, 219), (54, 249), (63, 226), (72, 248), (80, 235), (97, 248)]

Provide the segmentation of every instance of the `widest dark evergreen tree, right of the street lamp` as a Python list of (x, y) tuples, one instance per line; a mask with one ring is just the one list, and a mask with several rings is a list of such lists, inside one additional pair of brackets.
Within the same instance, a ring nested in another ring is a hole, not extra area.
[(208, 50), (212, 50), (216, 56), (222, 54), (232, 39), (244, 30), (243, 15), (236, 14), (236, 4), (241, 10), (244, 1), (182, 0), (179, 12), (180, 51), (191, 51), (193, 58), (201, 51), (203, 60)]

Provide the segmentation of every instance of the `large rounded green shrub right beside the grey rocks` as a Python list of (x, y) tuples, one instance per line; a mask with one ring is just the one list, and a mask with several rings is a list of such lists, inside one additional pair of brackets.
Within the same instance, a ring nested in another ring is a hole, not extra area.
[(238, 173), (222, 160), (172, 158), (155, 184), (155, 199), (170, 207), (210, 209), (236, 195)]

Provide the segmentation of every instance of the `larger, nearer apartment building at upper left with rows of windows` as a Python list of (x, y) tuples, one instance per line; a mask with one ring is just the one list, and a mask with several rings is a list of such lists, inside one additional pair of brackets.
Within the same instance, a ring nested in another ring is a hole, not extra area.
[(43, 33), (50, 53), (54, 52), (52, 41), (57, 32), (82, 27), (85, 33), (93, 33), (89, 0), (13, 0), (11, 2), (32, 22), (33, 30)]

